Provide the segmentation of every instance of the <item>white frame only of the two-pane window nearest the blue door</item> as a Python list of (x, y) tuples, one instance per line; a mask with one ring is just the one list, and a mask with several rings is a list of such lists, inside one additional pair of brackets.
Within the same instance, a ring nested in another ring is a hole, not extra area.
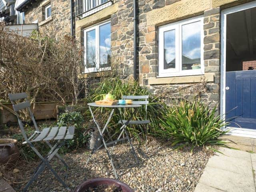
[[(201, 22), (200, 69), (182, 70), (182, 26)], [(164, 69), (164, 32), (175, 30), (175, 68)], [(158, 77), (191, 76), (204, 74), (204, 17), (197, 16), (158, 27)]]

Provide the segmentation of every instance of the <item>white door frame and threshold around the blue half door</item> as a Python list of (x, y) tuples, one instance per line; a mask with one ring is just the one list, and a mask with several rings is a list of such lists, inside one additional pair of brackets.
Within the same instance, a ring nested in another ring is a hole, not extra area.
[[(220, 115), (225, 120), (226, 113), (226, 24), (227, 15), (256, 7), (256, 0), (221, 11), (221, 58), (220, 58)], [(230, 128), (230, 135), (256, 138), (256, 130)]]

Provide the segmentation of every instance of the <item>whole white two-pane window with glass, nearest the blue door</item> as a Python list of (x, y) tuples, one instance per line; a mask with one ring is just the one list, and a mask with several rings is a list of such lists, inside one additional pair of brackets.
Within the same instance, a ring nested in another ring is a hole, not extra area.
[(158, 28), (158, 76), (204, 74), (203, 16)]

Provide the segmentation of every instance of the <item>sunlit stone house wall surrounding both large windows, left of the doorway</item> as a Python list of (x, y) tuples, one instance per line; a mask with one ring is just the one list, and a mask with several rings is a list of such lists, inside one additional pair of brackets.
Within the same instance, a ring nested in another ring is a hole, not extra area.
[[(220, 103), (220, 11), (251, 0), (138, 0), (138, 74), (140, 84), (167, 102), (176, 98), (200, 96), (211, 107)], [(157, 78), (158, 27), (195, 16), (204, 17), (205, 74)], [(133, 0), (114, 4), (76, 23), (78, 42), (83, 28), (111, 20), (111, 48), (120, 67), (133, 74)], [(92, 74), (89, 74), (92, 75)], [(88, 76), (86, 74), (85, 76)]]

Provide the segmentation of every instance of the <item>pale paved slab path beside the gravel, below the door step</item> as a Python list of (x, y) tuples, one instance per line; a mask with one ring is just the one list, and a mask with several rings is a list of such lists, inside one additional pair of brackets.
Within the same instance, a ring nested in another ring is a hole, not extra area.
[(195, 192), (256, 192), (256, 154), (221, 147), (204, 169)]

